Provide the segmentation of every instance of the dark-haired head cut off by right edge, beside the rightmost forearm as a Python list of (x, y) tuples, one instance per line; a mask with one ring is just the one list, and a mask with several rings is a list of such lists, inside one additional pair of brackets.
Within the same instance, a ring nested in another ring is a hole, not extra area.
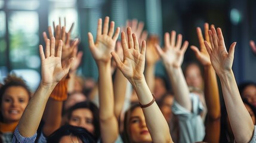
[(256, 107), (256, 83), (244, 82), (238, 86), (238, 89), (242, 99)]

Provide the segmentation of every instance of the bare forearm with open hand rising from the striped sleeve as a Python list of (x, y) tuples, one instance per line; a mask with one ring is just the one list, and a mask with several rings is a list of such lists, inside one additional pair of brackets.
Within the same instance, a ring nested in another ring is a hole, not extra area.
[(54, 45), (55, 39), (52, 37), (51, 44), (49, 39), (46, 42), (45, 53), (42, 45), (39, 46), (42, 80), (18, 123), (18, 130), (24, 137), (36, 133), (51, 92), (55, 85), (68, 73), (73, 61), (73, 58), (70, 58), (66, 64), (61, 66), (62, 41), (59, 42), (57, 49), (54, 48)]

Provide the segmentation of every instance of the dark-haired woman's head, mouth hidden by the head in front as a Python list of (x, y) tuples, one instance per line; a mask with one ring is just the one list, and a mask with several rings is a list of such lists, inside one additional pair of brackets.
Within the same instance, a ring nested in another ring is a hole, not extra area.
[(100, 122), (98, 107), (91, 101), (79, 102), (67, 112), (69, 125), (87, 129), (96, 138), (100, 137)]

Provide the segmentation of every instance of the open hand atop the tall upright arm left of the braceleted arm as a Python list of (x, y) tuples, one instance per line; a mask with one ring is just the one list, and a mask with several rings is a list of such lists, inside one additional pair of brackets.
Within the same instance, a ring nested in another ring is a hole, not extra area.
[(116, 28), (114, 34), (115, 22), (111, 21), (109, 28), (109, 17), (106, 17), (104, 20), (103, 31), (102, 29), (102, 20), (98, 20), (97, 36), (96, 42), (94, 43), (93, 36), (88, 33), (88, 41), (90, 45), (90, 50), (92, 57), (98, 62), (107, 63), (111, 60), (110, 52), (115, 50), (116, 40), (118, 39), (120, 28)]

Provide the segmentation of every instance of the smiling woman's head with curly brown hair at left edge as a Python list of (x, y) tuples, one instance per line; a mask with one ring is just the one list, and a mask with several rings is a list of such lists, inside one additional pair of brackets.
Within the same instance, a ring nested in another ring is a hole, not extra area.
[(20, 77), (9, 75), (0, 88), (0, 121), (13, 123), (20, 120), (30, 99), (30, 91)]

